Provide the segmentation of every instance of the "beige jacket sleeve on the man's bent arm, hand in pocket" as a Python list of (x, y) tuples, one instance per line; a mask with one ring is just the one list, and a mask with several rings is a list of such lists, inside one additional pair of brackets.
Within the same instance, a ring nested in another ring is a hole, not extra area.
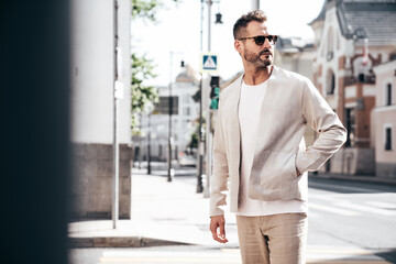
[(308, 79), (304, 85), (301, 102), (304, 120), (319, 133), (314, 144), (296, 156), (296, 166), (304, 173), (319, 169), (345, 142), (346, 130)]

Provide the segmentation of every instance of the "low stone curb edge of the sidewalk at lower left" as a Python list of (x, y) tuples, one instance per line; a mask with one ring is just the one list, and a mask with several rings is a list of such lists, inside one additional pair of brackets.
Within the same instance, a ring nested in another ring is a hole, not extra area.
[(69, 249), (82, 248), (147, 248), (164, 245), (191, 245), (169, 240), (150, 239), (143, 237), (97, 237), (97, 238), (68, 238)]

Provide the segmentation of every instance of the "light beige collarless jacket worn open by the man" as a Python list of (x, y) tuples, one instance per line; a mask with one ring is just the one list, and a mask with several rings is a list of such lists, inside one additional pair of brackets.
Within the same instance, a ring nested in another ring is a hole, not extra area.
[[(220, 95), (210, 180), (210, 216), (237, 212), (240, 184), (241, 139), (238, 117), (243, 75)], [(308, 173), (317, 170), (346, 139), (346, 130), (311, 81), (298, 74), (273, 68), (267, 80), (249, 183), (252, 199), (307, 200)], [(307, 123), (319, 133), (305, 148)], [(301, 173), (297, 176), (296, 168)]]

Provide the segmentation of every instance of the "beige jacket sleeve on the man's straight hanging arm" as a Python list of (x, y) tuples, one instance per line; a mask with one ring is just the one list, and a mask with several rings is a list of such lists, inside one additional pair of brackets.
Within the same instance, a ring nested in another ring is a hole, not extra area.
[(210, 179), (210, 216), (224, 215), (221, 208), (227, 205), (229, 169), (221, 121), (221, 109), (218, 110), (213, 138), (213, 173)]

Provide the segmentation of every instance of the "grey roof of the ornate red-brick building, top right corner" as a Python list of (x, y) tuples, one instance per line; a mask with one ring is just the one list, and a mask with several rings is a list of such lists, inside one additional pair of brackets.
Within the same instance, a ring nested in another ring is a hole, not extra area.
[(341, 33), (358, 45), (396, 45), (396, 0), (338, 0)]

